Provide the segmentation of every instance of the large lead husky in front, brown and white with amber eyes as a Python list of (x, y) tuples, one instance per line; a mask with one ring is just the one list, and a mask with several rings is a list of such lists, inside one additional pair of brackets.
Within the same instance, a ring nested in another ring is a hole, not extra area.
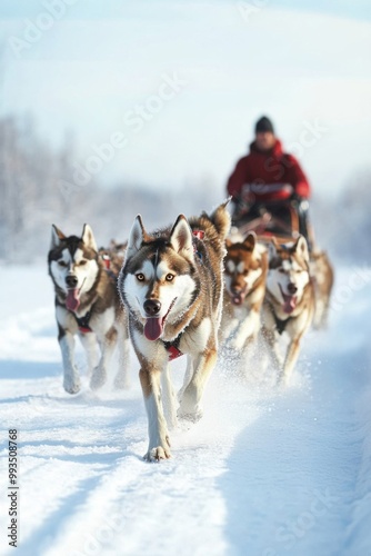
[[(161, 374), (169, 377), (168, 361), (181, 354), (189, 357), (178, 416), (193, 421), (202, 416), (203, 388), (217, 360), (224, 239), (230, 227), (227, 205), (189, 221), (180, 215), (172, 228), (152, 235), (138, 216), (130, 232), (119, 291), (141, 366), (149, 461), (171, 456), (160, 379)], [(169, 380), (163, 396), (171, 404), (170, 425), (176, 425)]]

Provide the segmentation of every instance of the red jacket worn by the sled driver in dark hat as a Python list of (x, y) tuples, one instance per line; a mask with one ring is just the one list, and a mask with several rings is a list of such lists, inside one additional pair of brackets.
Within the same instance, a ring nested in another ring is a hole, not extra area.
[(267, 192), (260, 193), (259, 186), (273, 183), (290, 183), (293, 191), (303, 198), (309, 198), (311, 193), (298, 160), (282, 151), (281, 141), (278, 139), (274, 147), (267, 152), (258, 150), (255, 142), (252, 142), (250, 153), (237, 162), (227, 189), (232, 197), (238, 197), (244, 185), (252, 185), (255, 200), (269, 201), (275, 198), (268, 198)]

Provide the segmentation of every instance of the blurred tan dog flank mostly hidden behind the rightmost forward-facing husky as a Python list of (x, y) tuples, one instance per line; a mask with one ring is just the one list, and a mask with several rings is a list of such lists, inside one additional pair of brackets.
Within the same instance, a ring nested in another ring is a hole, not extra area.
[(310, 267), (315, 298), (313, 326), (315, 329), (321, 329), (328, 325), (330, 297), (333, 287), (333, 268), (325, 251), (312, 252)]

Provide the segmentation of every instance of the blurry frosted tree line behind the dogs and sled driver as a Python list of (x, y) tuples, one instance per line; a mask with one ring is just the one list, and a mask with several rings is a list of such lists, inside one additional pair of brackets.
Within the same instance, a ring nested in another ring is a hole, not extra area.
[[(31, 118), (0, 118), (0, 261), (31, 262), (44, 258), (51, 224), (79, 234), (89, 222), (99, 245), (123, 241), (137, 214), (148, 229), (170, 224), (179, 212), (211, 209), (224, 191), (210, 179), (184, 183), (182, 190), (154, 189), (119, 180), (114, 187), (91, 179), (72, 183), (73, 137), (59, 148), (40, 138)], [(315, 195), (311, 203), (317, 240), (335, 258), (371, 262), (371, 170), (358, 172), (331, 203)]]

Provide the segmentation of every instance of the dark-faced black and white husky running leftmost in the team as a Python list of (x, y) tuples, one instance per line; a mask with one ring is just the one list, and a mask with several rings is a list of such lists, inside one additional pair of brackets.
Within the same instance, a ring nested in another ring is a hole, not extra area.
[[(126, 315), (117, 291), (117, 278), (99, 256), (90, 226), (83, 226), (82, 236), (66, 237), (52, 226), (48, 256), (49, 275), (56, 290), (58, 340), (64, 368), (64, 390), (76, 394), (80, 378), (74, 365), (74, 336), (79, 335), (86, 348), (91, 371), (90, 386), (101, 387), (117, 344), (120, 347), (120, 368), (116, 386), (128, 384), (129, 351)], [(101, 350), (98, 360), (97, 339)]]

